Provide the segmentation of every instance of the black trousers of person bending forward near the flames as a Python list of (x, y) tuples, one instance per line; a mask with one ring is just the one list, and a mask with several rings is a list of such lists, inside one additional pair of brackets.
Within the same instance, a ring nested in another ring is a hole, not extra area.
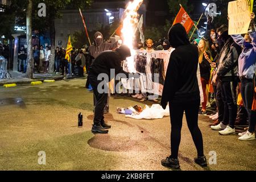
[(98, 92), (98, 84), (100, 84), (100, 80), (97, 80), (97, 76), (89, 73), (88, 75), (90, 80), (90, 85), (92, 85), (94, 97), (96, 98), (96, 106), (94, 112), (94, 125), (100, 125), (101, 122), (104, 121), (104, 107), (108, 102), (108, 92), (99, 93)]

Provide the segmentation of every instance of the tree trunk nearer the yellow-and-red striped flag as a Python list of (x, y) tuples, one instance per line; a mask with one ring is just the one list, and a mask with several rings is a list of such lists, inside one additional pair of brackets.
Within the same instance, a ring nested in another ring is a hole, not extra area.
[(54, 73), (54, 64), (55, 64), (55, 17), (50, 13), (49, 23), (50, 23), (50, 39), (51, 39), (51, 60), (49, 62), (49, 73)]

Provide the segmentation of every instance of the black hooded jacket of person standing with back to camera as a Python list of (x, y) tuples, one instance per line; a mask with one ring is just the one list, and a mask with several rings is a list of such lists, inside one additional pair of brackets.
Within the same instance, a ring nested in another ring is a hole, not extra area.
[(162, 100), (171, 103), (200, 100), (197, 82), (198, 48), (189, 43), (185, 28), (180, 23), (171, 27), (168, 37), (175, 51), (168, 64)]

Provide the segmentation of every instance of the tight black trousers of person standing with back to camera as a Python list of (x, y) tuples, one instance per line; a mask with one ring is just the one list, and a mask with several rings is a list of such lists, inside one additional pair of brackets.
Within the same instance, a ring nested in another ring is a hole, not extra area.
[(170, 104), (172, 159), (177, 159), (178, 156), (184, 111), (187, 119), (188, 129), (196, 146), (197, 155), (204, 156), (203, 137), (198, 127), (199, 106), (200, 100), (179, 104)]

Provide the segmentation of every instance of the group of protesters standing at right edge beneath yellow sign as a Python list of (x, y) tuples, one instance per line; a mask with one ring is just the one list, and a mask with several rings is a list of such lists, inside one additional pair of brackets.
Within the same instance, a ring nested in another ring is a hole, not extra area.
[[(236, 126), (244, 126), (239, 140), (255, 139), (255, 15), (251, 14), (248, 34), (229, 35), (228, 26), (210, 31), (210, 40), (196, 39), (199, 48), (199, 65), (204, 102), (200, 115), (210, 115), (212, 130), (221, 135), (236, 133)], [(207, 101), (214, 98), (213, 107), (207, 111)]]

